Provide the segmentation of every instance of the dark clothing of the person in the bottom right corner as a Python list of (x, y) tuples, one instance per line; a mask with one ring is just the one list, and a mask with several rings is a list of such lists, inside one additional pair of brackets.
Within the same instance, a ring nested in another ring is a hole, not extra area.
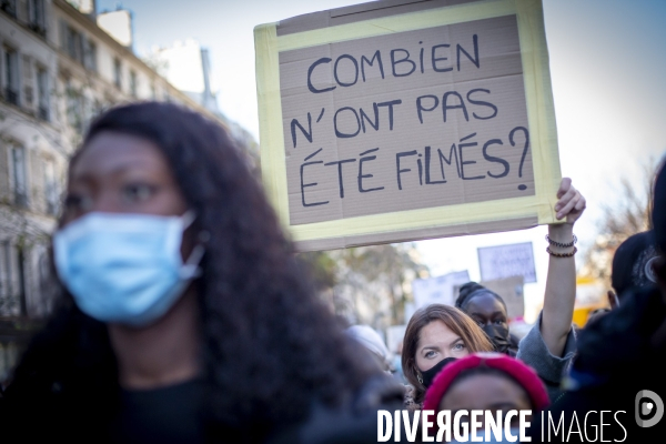
[[(567, 392), (547, 411), (542, 424), (541, 415), (534, 416), (533, 442), (547, 441), (542, 426), (548, 427), (548, 414), (556, 424), (564, 415), (564, 433), (574, 424), (574, 413), (579, 427), (585, 428), (587, 441), (599, 426), (602, 411), (604, 440), (626, 442), (654, 442), (666, 432), (666, 417), (652, 427), (636, 423), (637, 398), (640, 391), (649, 390), (666, 401), (666, 302), (658, 290), (637, 291), (617, 310), (588, 325), (581, 332), (578, 354), (571, 375), (565, 381)], [(640, 397), (640, 396), (639, 396)], [(589, 413), (587, 427), (585, 415)], [(592, 413), (595, 412), (595, 413)], [(654, 410), (653, 410), (654, 412)], [(654, 416), (654, 415), (653, 415)], [(642, 418), (647, 418), (643, 417)], [(575, 430), (575, 424), (573, 425)], [(553, 428), (552, 428), (553, 431)], [(598, 430), (596, 431), (598, 434)], [(567, 436), (551, 435), (551, 441)], [(568, 436), (568, 442), (584, 441), (585, 433)]]

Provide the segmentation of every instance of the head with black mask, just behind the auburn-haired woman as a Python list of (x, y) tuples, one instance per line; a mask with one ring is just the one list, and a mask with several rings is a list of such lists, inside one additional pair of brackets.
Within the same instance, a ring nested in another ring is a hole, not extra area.
[(465, 312), (488, 335), (495, 351), (515, 356), (517, 344), (508, 332), (508, 313), (501, 295), (476, 282), (461, 286), (455, 306)]

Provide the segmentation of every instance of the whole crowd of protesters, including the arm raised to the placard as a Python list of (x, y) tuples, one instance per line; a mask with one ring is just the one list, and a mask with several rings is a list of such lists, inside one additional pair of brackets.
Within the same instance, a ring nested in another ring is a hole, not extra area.
[(379, 411), (527, 410), (533, 442), (551, 417), (539, 412), (565, 426), (628, 412), (606, 437), (644, 440), (656, 428), (634, 420), (637, 393), (666, 394), (666, 171), (654, 229), (613, 261), (613, 310), (579, 332), (574, 225), (586, 203), (569, 179), (556, 198), (534, 327), (518, 341), (502, 297), (470, 282), (455, 306), (414, 313), (396, 362), (316, 296), (222, 128), (175, 104), (111, 109), (71, 159), (52, 242), (58, 310), (3, 390), (0, 437), (369, 443)]

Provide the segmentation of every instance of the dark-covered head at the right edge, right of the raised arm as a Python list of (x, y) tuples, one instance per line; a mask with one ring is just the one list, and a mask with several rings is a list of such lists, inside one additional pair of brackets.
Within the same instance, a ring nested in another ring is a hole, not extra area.
[(655, 285), (654, 271), (657, 250), (653, 231), (627, 238), (615, 251), (610, 283), (622, 301), (627, 290)]

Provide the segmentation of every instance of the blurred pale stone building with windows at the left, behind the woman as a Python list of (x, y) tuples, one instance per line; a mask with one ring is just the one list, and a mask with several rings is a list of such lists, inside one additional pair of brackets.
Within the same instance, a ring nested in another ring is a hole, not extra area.
[(123, 102), (175, 102), (256, 152), (218, 110), (210, 61), (196, 48), (203, 79), (190, 89), (176, 71), (164, 75), (134, 54), (129, 11), (98, 16), (94, 0), (0, 0), (0, 383), (52, 310), (50, 233), (68, 160), (91, 119)]

